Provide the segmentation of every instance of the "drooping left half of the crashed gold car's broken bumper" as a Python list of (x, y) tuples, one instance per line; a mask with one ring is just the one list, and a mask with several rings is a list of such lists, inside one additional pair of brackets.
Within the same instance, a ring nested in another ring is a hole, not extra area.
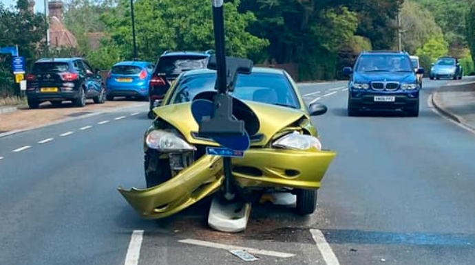
[(125, 190), (120, 194), (145, 219), (171, 216), (217, 191), (224, 179), (222, 158), (204, 155), (169, 181), (149, 189)]

